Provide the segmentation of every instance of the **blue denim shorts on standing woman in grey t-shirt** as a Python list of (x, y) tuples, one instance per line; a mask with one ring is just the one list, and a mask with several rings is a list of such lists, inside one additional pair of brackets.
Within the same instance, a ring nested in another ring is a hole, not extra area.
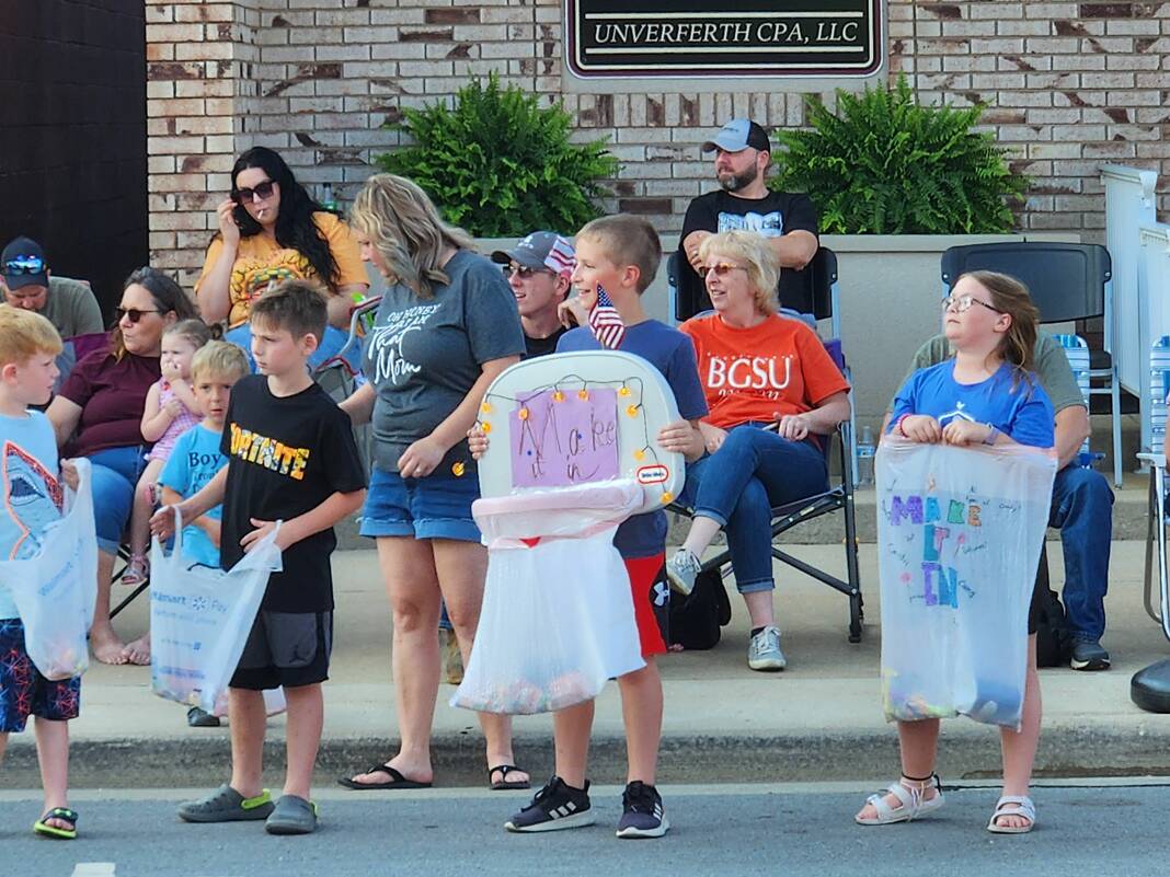
[(374, 469), (370, 474), (362, 536), (412, 536), (415, 539), (480, 541), (472, 503), (480, 498), (474, 474), (456, 477), (433, 472), (426, 478), (404, 478)]

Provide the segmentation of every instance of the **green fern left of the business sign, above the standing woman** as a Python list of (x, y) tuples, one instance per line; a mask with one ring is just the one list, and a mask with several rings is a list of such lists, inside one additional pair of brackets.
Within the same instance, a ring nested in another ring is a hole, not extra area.
[(495, 75), (460, 89), (454, 109), (406, 109), (387, 127), (414, 145), (377, 156), (378, 166), (414, 180), (448, 222), (479, 237), (572, 234), (600, 213), (601, 181), (619, 167), (604, 139), (570, 141), (560, 104), (542, 108), (515, 85), (501, 89)]

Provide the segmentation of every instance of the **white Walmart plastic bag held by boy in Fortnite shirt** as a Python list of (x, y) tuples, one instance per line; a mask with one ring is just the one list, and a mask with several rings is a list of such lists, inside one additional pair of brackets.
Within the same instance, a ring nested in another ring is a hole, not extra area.
[(151, 688), (159, 697), (214, 712), (260, 610), (268, 576), (280, 572), (280, 523), (229, 571), (183, 558), (183, 522), (174, 517), (174, 550), (151, 543)]

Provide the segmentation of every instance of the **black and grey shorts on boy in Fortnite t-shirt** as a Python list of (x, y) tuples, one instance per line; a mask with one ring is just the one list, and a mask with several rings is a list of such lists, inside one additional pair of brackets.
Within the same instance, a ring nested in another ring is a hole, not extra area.
[(333, 613), (261, 609), (229, 684), (263, 691), (324, 682), (332, 645)]

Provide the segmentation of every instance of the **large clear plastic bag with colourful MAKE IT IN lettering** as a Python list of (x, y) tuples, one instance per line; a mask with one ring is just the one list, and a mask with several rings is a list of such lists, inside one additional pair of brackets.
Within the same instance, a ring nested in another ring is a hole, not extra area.
[(882, 441), (876, 456), (886, 718), (1020, 726), (1027, 614), (1055, 457)]

